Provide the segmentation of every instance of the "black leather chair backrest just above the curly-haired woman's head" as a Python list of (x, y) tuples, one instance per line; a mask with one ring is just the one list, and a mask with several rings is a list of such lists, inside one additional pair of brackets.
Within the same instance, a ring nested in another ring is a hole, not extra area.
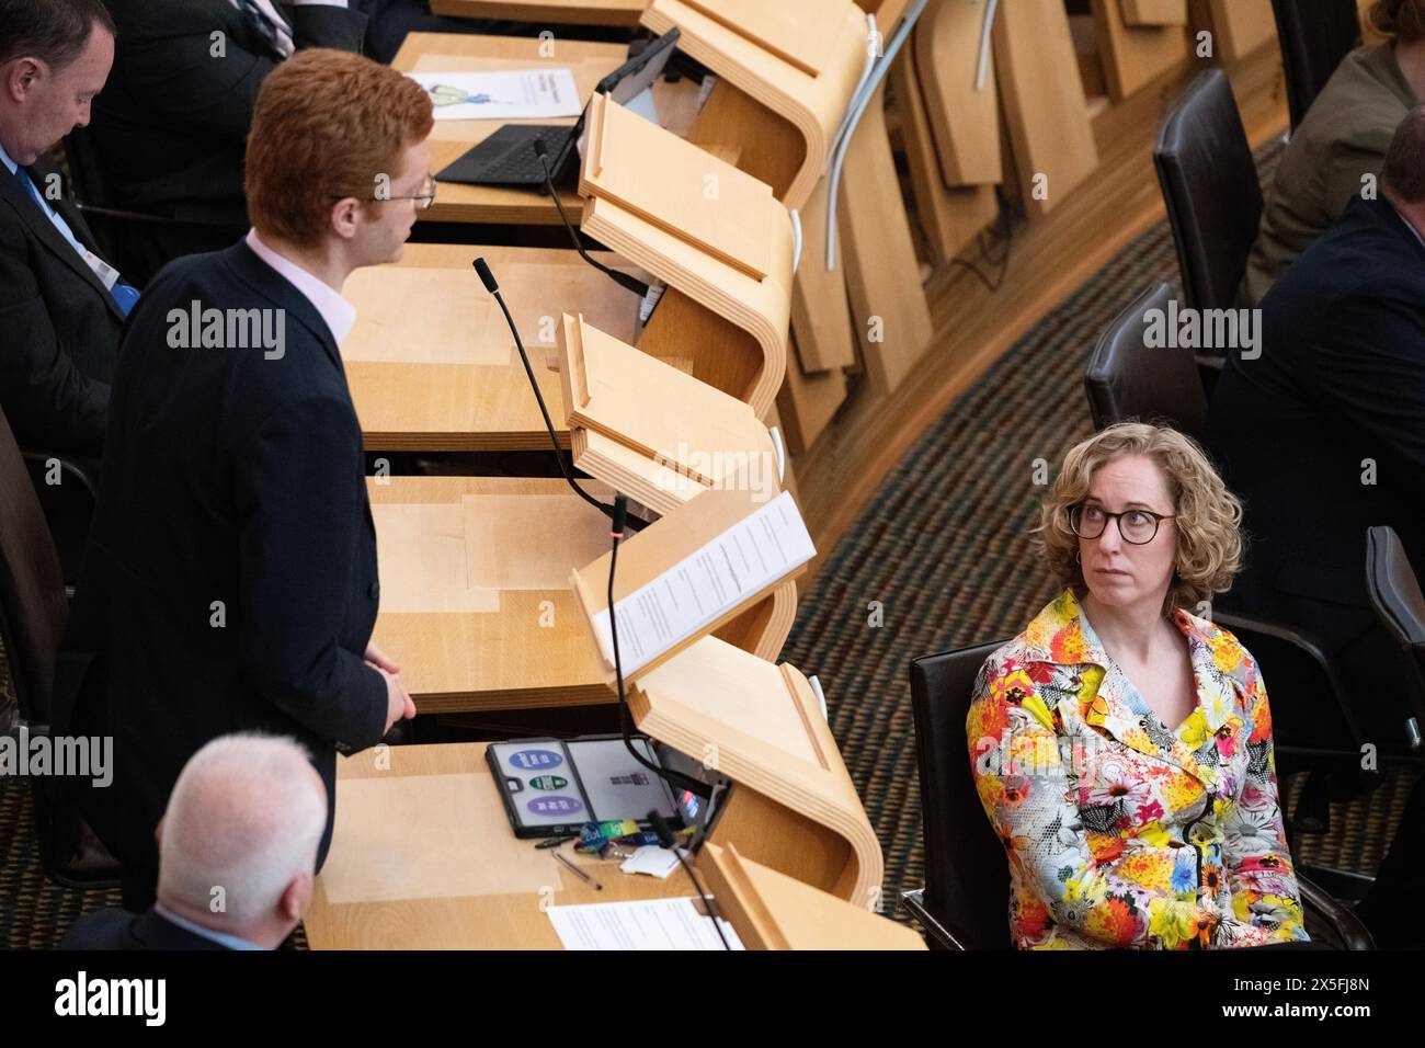
[(1149, 346), (1149, 314), (1161, 311), (1167, 325), (1171, 284), (1159, 284), (1109, 325), (1089, 358), (1083, 388), (1093, 428), (1137, 419), (1171, 425), (1194, 439), (1203, 436), (1207, 396), (1191, 349)]

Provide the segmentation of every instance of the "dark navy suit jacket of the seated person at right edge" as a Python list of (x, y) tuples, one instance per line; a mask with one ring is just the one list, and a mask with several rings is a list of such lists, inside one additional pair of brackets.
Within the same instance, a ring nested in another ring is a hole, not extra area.
[(1387, 200), (1354, 200), (1261, 311), (1261, 356), (1231, 354), (1207, 421), (1247, 509), (1230, 603), (1344, 650), (1378, 635), (1367, 528), (1425, 573), (1425, 245)]

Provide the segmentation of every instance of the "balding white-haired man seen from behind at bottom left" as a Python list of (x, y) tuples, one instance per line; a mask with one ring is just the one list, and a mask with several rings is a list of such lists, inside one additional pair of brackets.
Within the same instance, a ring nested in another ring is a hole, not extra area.
[(152, 910), (97, 910), (61, 950), (275, 950), (312, 900), (326, 788), (301, 746), (224, 736), (192, 756), (155, 836)]

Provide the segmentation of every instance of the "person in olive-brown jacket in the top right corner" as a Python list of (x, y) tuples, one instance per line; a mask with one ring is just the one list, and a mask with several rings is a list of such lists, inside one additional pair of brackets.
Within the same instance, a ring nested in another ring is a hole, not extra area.
[(1401, 120), (1425, 101), (1425, 0), (1378, 0), (1368, 17), (1388, 40), (1341, 61), (1281, 154), (1243, 279), (1247, 305), (1361, 197)]

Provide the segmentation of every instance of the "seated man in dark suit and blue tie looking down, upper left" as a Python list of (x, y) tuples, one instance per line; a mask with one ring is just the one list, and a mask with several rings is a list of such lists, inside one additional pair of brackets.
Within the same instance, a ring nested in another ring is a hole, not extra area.
[(113, 57), (98, 0), (0, 0), (0, 408), (21, 446), (98, 453), (138, 297), (41, 158), (88, 123)]

